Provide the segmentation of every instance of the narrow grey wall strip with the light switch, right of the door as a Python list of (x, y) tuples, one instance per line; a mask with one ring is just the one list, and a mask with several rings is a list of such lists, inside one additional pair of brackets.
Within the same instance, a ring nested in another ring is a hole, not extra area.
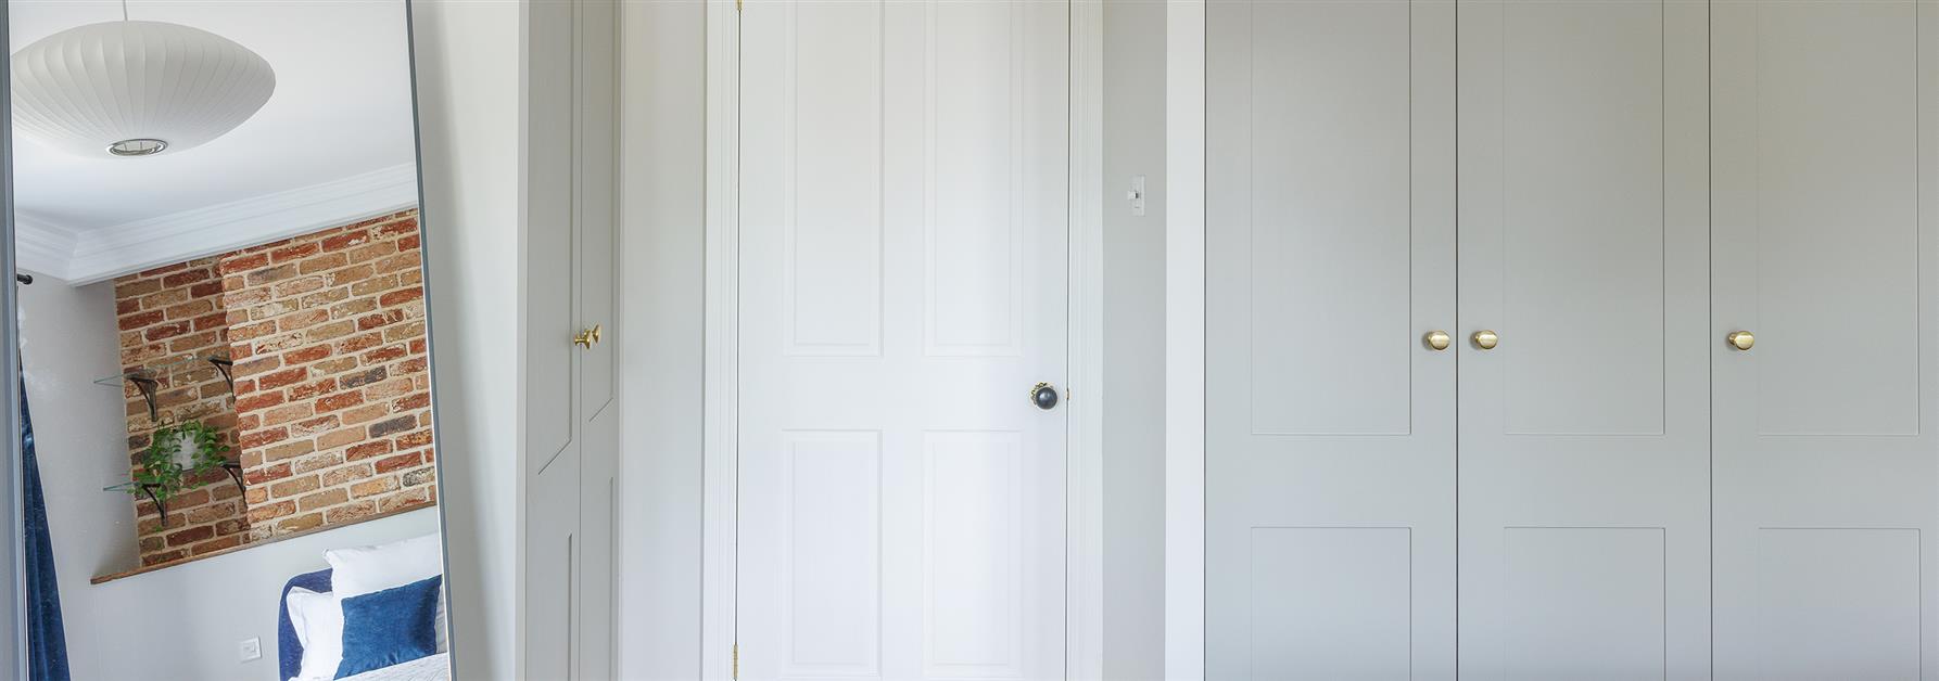
[[(1103, 6), (1105, 679), (1165, 675), (1165, 4)], [(1146, 213), (1125, 190), (1146, 176)]]

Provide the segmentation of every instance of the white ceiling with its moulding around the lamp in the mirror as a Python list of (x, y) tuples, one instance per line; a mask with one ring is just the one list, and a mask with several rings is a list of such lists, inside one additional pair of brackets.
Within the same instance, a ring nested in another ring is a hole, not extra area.
[[(19, 50), (116, 21), (122, 6), (10, 0), (8, 12)], [(240, 43), (275, 70), (275, 95), (227, 135), (157, 157), (83, 159), (16, 137), (23, 269), (99, 281), (415, 203), (403, 0), (130, 0), (128, 17)]]

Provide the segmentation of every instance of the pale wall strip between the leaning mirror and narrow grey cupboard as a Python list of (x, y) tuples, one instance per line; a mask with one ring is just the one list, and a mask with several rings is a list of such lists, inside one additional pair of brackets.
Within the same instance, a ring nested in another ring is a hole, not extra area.
[(458, 679), (518, 669), (520, 2), (411, 4)]

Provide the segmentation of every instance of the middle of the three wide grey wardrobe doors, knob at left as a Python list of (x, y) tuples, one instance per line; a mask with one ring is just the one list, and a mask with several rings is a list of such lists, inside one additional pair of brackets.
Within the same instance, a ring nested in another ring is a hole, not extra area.
[(1460, 671), (1702, 679), (1704, 4), (1458, 14)]

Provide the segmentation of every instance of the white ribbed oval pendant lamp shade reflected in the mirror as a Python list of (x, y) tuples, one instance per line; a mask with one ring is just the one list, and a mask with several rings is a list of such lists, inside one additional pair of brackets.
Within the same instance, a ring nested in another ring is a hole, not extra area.
[(260, 54), (180, 23), (89, 23), (14, 52), (14, 130), (81, 157), (196, 147), (273, 91)]

